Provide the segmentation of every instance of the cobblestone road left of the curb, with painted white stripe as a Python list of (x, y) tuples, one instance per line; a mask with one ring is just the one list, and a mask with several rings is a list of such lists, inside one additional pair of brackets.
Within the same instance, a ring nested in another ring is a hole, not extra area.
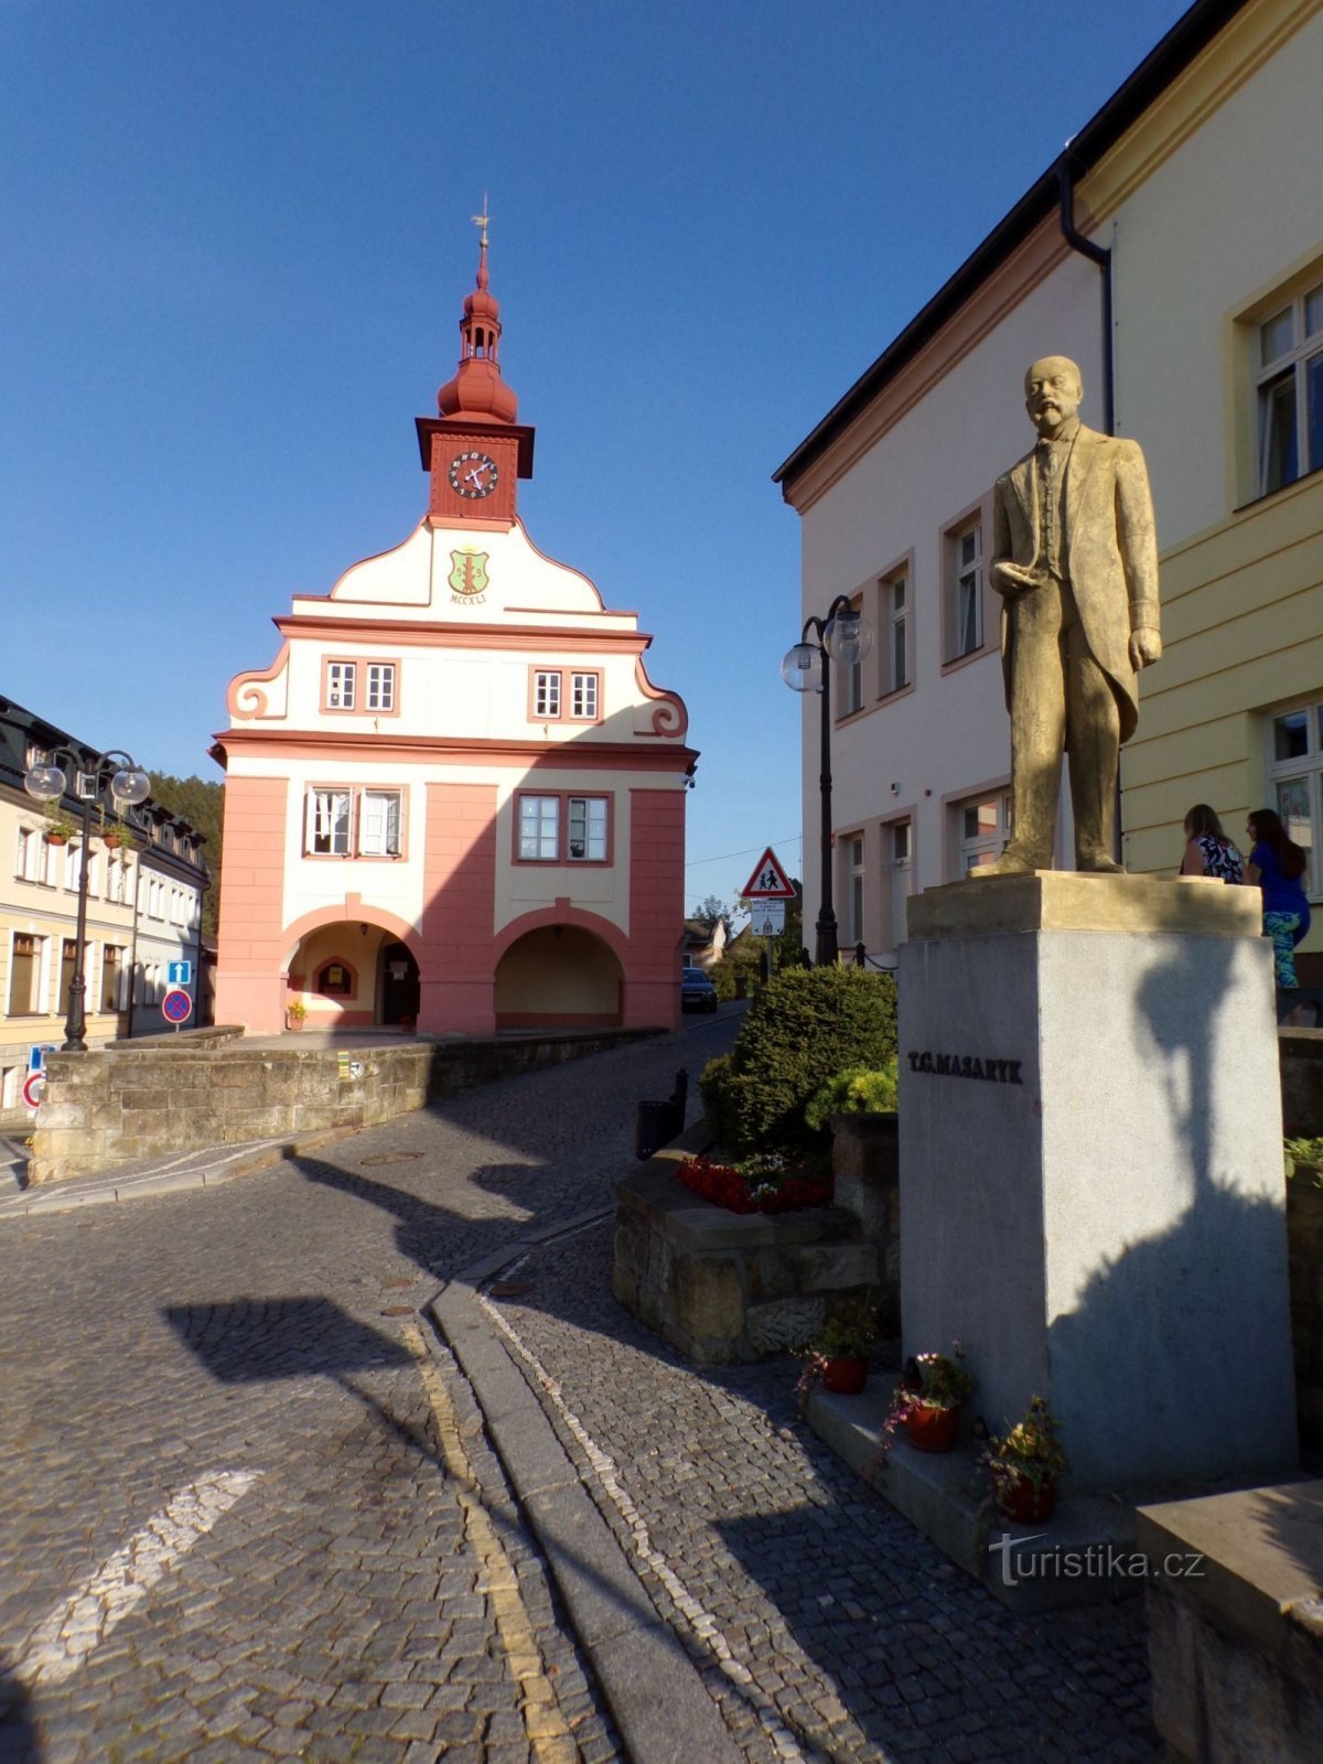
[(607, 1205), (635, 1101), (732, 1030), (0, 1224), (4, 1764), (619, 1755), (422, 1312), (526, 1224)]

